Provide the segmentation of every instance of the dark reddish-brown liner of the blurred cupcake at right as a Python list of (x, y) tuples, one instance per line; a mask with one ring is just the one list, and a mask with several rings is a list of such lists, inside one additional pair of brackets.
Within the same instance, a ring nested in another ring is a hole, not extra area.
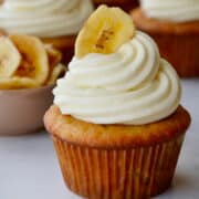
[(199, 76), (199, 36), (149, 33), (181, 77)]

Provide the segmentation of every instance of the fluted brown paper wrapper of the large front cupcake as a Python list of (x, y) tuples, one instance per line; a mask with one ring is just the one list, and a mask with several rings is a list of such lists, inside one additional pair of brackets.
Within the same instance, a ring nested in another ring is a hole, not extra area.
[(146, 199), (163, 192), (171, 184), (182, 140), (102, 149), (53, 136), (65, 184), (91, 199)]

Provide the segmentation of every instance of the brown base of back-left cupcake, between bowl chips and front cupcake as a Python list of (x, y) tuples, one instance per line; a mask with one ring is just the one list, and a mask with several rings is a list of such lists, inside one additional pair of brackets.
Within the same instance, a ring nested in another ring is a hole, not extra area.
[(42, 41), (46, 44), (52, 44), (55, 49), (62, 52), (62, 63), (67, 64), (74, 55), (75, 35), (60, 38), (43, 38)]

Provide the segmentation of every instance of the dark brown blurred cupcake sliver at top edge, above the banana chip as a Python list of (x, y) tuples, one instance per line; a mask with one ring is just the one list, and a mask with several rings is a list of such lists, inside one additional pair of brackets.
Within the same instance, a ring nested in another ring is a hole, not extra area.
[(121, 7), (126, 11), (138, 6), (138, 0), (93, 0), (93, 2), (96, 7), (100, 4), (107, 4), (109, 7)]

